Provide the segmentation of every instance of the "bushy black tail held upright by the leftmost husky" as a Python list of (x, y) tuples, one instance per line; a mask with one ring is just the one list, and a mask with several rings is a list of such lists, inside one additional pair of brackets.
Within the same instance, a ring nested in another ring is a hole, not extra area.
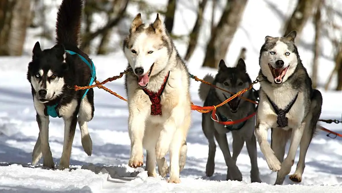
[(56, 43), (79, 45), (83, 0), (63, 0), (57, 13)]

